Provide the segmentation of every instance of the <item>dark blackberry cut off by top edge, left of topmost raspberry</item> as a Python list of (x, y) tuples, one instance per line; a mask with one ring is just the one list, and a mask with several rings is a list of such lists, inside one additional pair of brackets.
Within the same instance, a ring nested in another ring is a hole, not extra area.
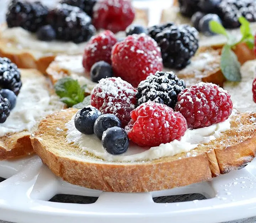
[(60, 3), (66, 3), (68, 5), (79, 7), (81, 10), (86, 12), (87, 15), (92, 17), (93, 7), (96, 0), (62, 0)]

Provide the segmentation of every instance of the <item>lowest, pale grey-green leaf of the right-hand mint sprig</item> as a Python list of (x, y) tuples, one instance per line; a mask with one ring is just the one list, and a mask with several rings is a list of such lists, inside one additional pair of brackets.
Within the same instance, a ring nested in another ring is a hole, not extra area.
[(220, 69), (228, 81), (241, 81), (240, 63), (229, 45), (222, 49)]

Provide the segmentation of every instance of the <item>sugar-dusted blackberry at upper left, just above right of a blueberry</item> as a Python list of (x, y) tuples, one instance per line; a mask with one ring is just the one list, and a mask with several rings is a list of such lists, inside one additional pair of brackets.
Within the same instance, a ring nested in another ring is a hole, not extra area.
[(59, 40), (81, 43), (95, 34), (91, 18), (79, 7), (58, 4), (47, 16), (48, 23), (55, 29)]

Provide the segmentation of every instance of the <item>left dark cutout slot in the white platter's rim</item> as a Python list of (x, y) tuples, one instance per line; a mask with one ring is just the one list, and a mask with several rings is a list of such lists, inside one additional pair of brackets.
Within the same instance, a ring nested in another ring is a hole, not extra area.
[(69, 195), (69, 194), (57, 194), (52, 197), (49, 201), (60, 202), (60, 203), (80, 203), (80, 204), (90, 204), (95, 203), (98, 197), (88, 197), (80, 195)]

